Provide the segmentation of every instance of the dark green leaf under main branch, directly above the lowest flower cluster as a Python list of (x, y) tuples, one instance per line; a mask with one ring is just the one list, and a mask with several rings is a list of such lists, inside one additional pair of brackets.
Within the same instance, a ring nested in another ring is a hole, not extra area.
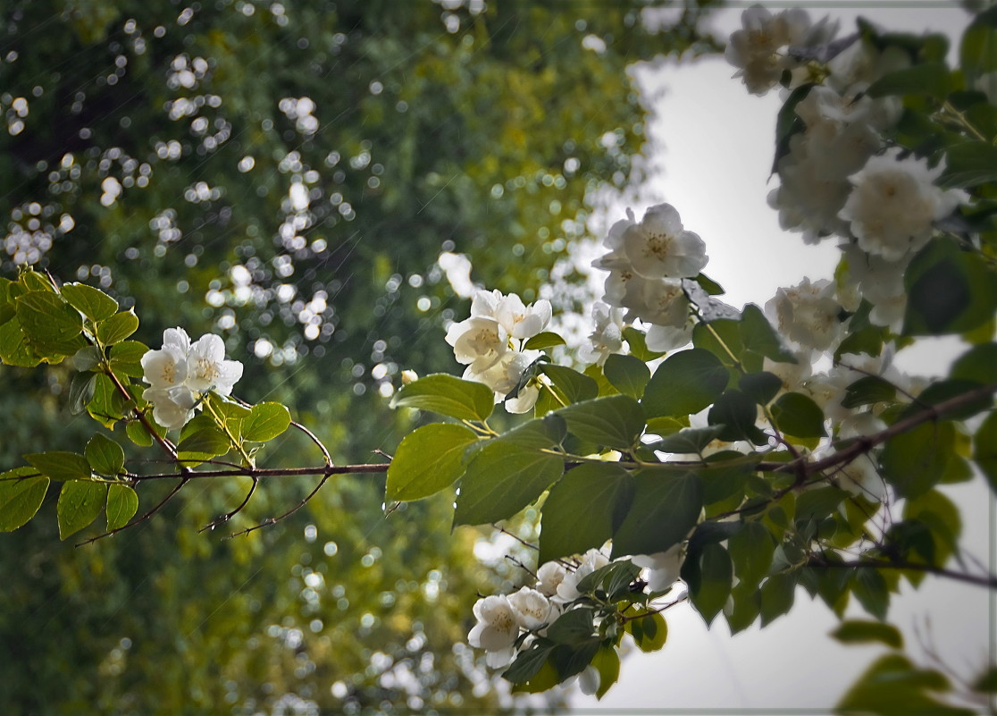
[(692, 473), (647, 470), (634, 476), (630, 512), (613, 536), (613, 556), (653, 554), (684, 539), (703, 509), (703, 489)]

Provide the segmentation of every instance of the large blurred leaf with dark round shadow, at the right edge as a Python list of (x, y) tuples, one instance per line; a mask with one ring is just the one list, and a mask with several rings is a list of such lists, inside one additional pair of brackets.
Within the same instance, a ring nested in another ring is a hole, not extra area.
[[(997, 166), (997, 165), (994, 165)], [(903, 335), (963, 333), (993, 317), (997, 276), (985, 259), (952, 241), (928, 243), (904, 273), (907, 310)]]

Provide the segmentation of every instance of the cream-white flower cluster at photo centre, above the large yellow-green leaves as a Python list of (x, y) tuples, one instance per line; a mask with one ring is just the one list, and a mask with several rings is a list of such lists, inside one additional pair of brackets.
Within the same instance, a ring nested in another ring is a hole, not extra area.
[(447, 342), (454, 347), (459, 363), (467, 365), (465, 380), (484, 383), (496, 392), (496, 401), (505, 401), (509, 413), (525, 413), (539, 397), (539, 387), (527, 384), (518, 394), (505, 396), (519, 384), (523, 373), (539, 356), (525, 350), (525, 342), (543, 331), (550, 322), (550, 301), (541, 299), (528, 306), (514, 293), (478, 291), (471, 302), (471, 317), (447, 330)]

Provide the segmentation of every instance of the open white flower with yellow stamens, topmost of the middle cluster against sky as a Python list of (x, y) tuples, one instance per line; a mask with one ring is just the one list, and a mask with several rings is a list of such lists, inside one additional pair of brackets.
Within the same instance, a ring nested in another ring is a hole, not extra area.
[(706, 265), (706, 244), (685, 231), (671, 204), (651, 206), (640, 223), (623, 232), (623, 253), (644, 278), (691, 278)]

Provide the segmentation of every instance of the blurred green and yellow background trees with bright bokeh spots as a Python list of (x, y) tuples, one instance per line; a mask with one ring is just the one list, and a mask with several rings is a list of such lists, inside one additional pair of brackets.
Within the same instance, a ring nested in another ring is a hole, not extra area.
[[(7, 3), (3, 273), (28, 262), (141, 301), (148, 343), (221, 333), (245, 398), (366, 460), (407, 427), (384, 399), (396, 374), (452, 360), (440, 252), (530, 300), (600, 190), (639, 179), (627, 66), (717, 49), (705, 7), (649, 33), (642, 5)], [(4, 465), (89, 434), (58, 399), (71, 373), (0, 367)], [(495, 704), (452, 648), (494, 577), (473, 533), (447, 534), (446, 500), (385, 519), (381, 479), (350, 479), (248, 537), (192, 533), (244, 487), (191, 486), (127, 540), (74, 549), (44, 520), (0, 540), (3, 710)], [(265, 486), (233, 528), (311, 487)]]

